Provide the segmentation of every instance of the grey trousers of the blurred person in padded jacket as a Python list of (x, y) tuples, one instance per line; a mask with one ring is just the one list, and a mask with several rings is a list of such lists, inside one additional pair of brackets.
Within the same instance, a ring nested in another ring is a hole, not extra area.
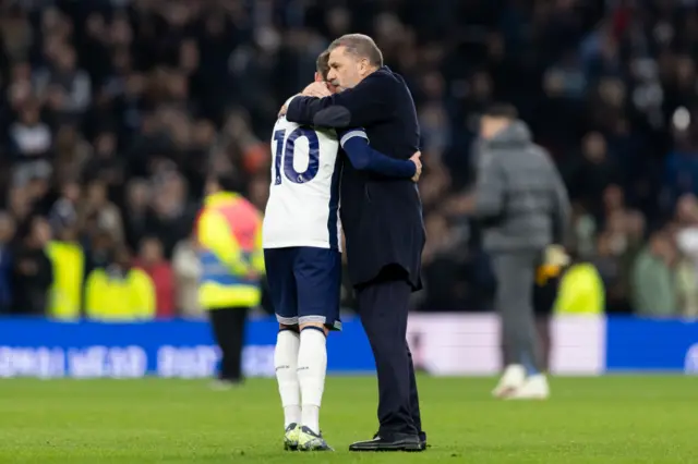
[(504, 351), (515, 364), (541, 370), (535, 319), (533, 279), (541, 253), (533, 251), (495, 253), (492, 267), (497, 279), (494, 305), (502, 322)]

